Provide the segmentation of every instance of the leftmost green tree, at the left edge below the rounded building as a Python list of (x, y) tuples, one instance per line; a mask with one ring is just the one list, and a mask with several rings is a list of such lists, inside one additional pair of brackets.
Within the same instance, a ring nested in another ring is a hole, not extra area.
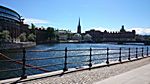
[(10, 33), (8, 30), (3, 30), (0, 32), (0, 40), (4, 42), (9, 42), (11, 40)]

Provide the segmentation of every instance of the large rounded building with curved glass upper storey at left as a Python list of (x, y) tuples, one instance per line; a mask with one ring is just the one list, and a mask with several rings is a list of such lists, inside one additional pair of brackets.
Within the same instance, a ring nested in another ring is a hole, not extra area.
[(16, 11), (0, 6), (0, 32), (8, 30), (12, 42), (17, 41), (18, 36), (27, 28), (28, 25), (23, 24), (23, 19)]

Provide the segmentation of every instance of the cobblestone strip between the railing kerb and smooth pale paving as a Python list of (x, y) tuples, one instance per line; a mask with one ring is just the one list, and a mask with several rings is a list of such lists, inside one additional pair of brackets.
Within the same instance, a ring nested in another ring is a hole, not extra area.
[(22, 84), (92, 84), (115, 76), (129, 70), (149, 64), (150, 58), (138, 61), (117, 64), (109, 67), (96, 68), (91, 70), (83, 70), (73, 73), (64, 74), (62, 76), (53, 76), (41, 78), (31, 81), (22, 82)]

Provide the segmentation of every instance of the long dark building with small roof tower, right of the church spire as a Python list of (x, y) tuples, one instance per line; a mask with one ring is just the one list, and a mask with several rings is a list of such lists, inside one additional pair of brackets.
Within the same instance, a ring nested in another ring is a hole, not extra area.
[(101, 41), (135, 41), (136, 32), (135, 30), (126, 31), (124, 29), (124, 25), (120, 29), (119, 32), (101, 32), (99, 30), (90, 30), (86, 31), (86, 34), (90, 34), (92, 36), (92, 40), (95, 42)]

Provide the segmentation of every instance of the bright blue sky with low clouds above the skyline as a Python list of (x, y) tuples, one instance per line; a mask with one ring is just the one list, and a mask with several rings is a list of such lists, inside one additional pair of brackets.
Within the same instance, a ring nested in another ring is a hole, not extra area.
[(119, 31), (135, 29), (150, 34), (150, 0), (0, 0), (0, 5), (17, 11), (25, 22), (76, 32), (90, 29)]

